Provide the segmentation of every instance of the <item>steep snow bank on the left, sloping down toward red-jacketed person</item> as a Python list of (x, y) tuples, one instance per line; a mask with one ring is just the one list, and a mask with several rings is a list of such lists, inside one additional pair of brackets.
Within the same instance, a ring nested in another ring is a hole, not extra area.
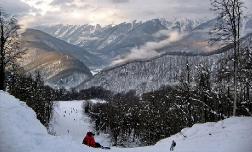
[(0, 91), (0, 152), (86, 152), (68, 137), (51, 136), (24, 102)]

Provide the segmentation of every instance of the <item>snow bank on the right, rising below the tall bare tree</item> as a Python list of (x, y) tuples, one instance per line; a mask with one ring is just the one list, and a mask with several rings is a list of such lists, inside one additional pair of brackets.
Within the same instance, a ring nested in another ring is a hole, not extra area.
[(176, 151), (179, 152), (251, 152), (252, 117), (196, 124), (155, 146), (163, 147), (172, 140), (177, 142)]

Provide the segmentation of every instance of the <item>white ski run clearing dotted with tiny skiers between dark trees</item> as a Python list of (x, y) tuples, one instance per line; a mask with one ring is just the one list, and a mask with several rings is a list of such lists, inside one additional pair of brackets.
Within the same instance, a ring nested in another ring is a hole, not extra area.
[[(83, 104), (85, 101), (55, 101), (50, 130), (57, 136), (69, 136), (75, 142), (82, 143), (86, 133), (93, 131), (90, 118), (83, 112)], [(104, 146), (110, 145), (108, 135), (100, 134), (95, 139)]]

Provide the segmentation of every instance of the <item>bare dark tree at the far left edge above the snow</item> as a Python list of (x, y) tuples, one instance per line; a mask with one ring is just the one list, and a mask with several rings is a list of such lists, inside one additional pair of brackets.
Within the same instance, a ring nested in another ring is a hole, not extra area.
[(18, 30), (20, 26), (15, 17), (0, 8), (0, 90), (5, 90), (6, 69), (21, 57)]

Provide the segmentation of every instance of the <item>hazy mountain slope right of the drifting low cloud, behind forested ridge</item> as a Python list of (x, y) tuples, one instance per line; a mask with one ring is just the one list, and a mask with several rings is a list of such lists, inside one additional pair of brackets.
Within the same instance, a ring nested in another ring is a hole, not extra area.
[[(214, 54), (215, 50), (225, 46), (222, 41), (209, 43), (210, 39), (214, 36), (210, 34), (219, 22), (217, 19), (212, 19), (202, 24), (199, 24), (193, 28), (190, 32), (187, 32), (181, 39), (174, 41), (167, 46), (157, 50), (158, 52), (187, 52), (193, 54)], [(241, 37), (252, 33), (252, 17), (248, 17), (243, 21), (243, 28)]]

